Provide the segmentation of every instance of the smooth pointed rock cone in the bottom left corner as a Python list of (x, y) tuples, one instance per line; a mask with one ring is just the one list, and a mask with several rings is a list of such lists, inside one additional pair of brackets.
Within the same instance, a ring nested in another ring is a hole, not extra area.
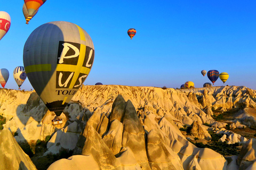
[(3, 129), (0, 133), (0, 169), (35, 169), (29, 156), (13, 138), (11, 131)]

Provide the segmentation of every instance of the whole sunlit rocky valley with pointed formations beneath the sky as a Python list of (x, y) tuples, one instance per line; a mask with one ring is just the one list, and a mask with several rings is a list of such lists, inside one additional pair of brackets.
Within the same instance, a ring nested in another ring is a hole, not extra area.
[(0, 89), (0, 169), (255, 169), (255, 95), (82, 86), (52, 125), (35, 91)]

